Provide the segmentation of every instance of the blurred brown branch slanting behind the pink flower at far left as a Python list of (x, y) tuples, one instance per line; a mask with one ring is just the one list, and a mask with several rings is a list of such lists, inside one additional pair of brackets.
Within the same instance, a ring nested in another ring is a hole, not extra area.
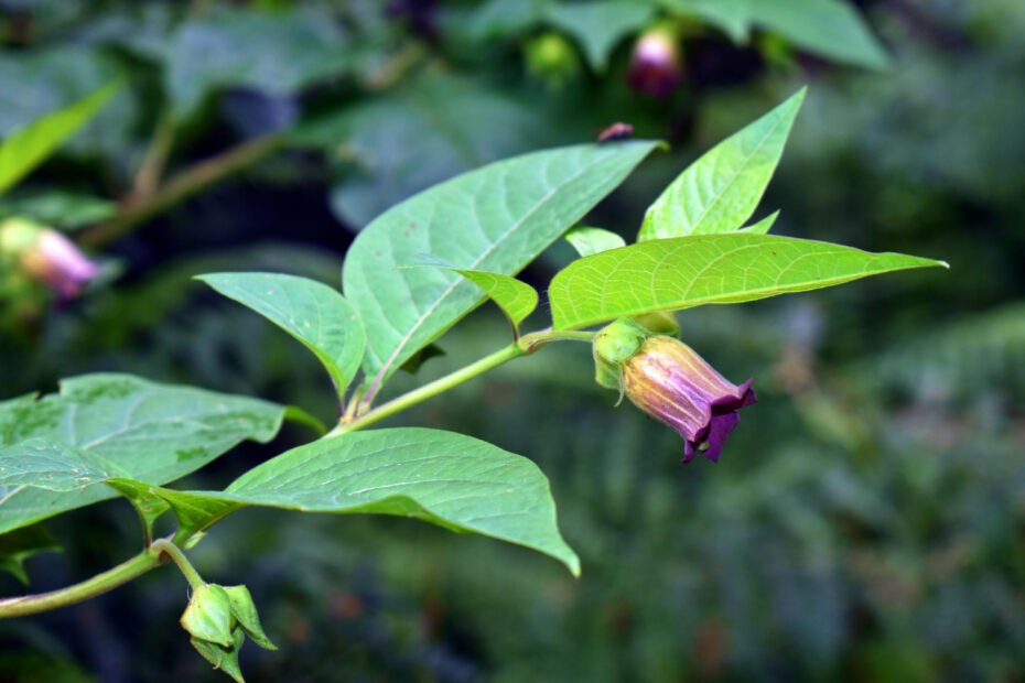
[(129, 198), (122, 205), (120, 214), (86, 231), (82, 237), (82, 243), (96, 248), (114, 241), (140, 223), (255, 163), (279, 149), (283, 142), (284, 138), (281, 135), (263, 135), (195, 164), (168, 181), (149, 196)]

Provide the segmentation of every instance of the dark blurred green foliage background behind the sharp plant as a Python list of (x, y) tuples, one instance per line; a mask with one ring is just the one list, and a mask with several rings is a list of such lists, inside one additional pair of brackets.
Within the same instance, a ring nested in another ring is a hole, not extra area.
[[(630, 78), (652, 26), (678, 51), (652, 76), (663, 89)], [(281, 647), (242, 652), (251, 681), (1021, 681), (1023, 34), (1021, 0), (0, 0), (0, 135), (125, 83), (0, 200), (105, 263), (75, 301), (36, 288), (0, 304), (0, 395), (119, 370), (331, 420), (315, 360), (191, 275), (337, 286), (382, 209), (613, 121), (672, 147), (589, 219), (629, 238), (701, 151), (808, 84), (758, 216), (951, 270), (680, 315), (759, 392), (719, 465), (679, 465), (675, 434), (614, 409), (575, 345), (401, 420), (533, 458), (582, 578), (421, 523), (272, 511), (231, 517), (192, 555), (250, 586)], [(524, 277), (543, 286), (571, 258), (557, 246)], [(484, 306), (393, 390), (506, 337)], [(238, 448), (182, 485), (223, 486), (310, 437)], [(28, 560), (32, 589), (139, 543), (123, 501), (46, 527), (63, 552)], [(176, 624), (184, 601), (166, 570), (2, 622), (0, 680), (220, 680)]]

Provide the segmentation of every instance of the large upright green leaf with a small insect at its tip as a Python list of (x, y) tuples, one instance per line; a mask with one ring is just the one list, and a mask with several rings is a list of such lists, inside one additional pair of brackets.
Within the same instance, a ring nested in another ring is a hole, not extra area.
[(516, 274), (655, 145), (585, 144), (517, 156), (438, 185), (375, 220), (349, 248), (344, 272), (345, 294), (367, 329), (368, 376), (379, 386), (484, 299), (457, 273), (399, 265), (430, 253), (467, 270)]

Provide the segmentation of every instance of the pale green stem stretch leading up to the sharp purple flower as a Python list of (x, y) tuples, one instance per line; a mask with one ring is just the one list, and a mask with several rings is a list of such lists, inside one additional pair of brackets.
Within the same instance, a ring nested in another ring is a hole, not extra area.
[[(529, 335), (524, 335), (515, 344), (498, 349), (489, 356), (485, 356), (481, 360), (473, 362), (465, 368), (461, 368), (455, 372), (445, 375), (439, 379), (435, 379), (433, 382), (429, 382), (422, 387), (413, 389), (408, 393), (388, 401), (377, 408), (370, 410), (366, 414), (356, 418), (355, 420), (348, 422), (341, 422), (334, 430), (332, 430), (327, 436), (338, 436), (341, 434), (346, 434), (348, 432), (355, 432), (364, 427), (370, 426), (376, 422), (380, 422), (385, 418), (390, 418), (391, 415), (402, 412), (407, 408), (411, 408), (417, 403), (427, 401), (433, 397), (436, 397), (439, 393), (444, 393), (463, 382), (471, 380), (478, 375), (484, 375), (488, 370), (497, 368), (504, 362), (508, 362), (514, 358), (519, 358), (520, 356), (526, 356), (532, 354), (542, 346), (550, 344), (551, 342), (591, 342), (594, 337), (594, 333), (591, 332), (552, 332), (552, 330), (541, 330), (535, 332)], [(354, 399), (355, 400), (355, 399)]]

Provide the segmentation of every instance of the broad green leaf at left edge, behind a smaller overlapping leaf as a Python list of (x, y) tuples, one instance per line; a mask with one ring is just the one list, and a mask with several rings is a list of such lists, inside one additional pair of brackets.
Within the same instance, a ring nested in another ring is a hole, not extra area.
[[(46, 445), (53, 458), (86, 454), (151, 484), (173, 481), (251, 438), (278, 433), (284, 409), (245, 397), (158, 384), (128, 375), (86, 375), (61, 392), (0, 402), (0, 446)], [(93, 484), (80, 483), (83, 486)], [(54, 492), (0, 486), (0, 532), (115, 497), (106, 486)]]

